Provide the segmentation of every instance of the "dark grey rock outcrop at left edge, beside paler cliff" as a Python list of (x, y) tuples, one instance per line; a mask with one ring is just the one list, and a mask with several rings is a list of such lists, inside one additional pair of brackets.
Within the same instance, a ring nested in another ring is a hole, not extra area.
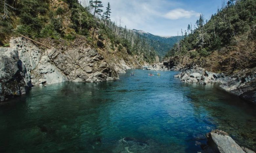
[(25, 94), (29, 87), (31, 80), (18, 50), (0, 47), (0, 101)]

